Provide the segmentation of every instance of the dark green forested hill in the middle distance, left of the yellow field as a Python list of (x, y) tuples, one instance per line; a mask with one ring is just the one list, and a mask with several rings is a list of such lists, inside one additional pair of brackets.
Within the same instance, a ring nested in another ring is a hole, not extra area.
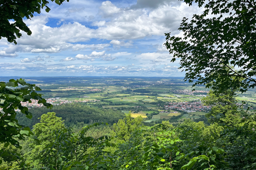
[(65, 120), (65, 125), (72, 127), (77, 123), (92, 124), (95, 122), (107, 122), (108, 124), (117, 123), (119, 119), (124, 118), (124, 113), (114, 109), (97, 109), (85, 106), (82, 103), (69, 103), (53, 106), (52, 109), (46, 107), (30, 108), (29, 111), (33, 117), (28, 119), (24, 114), (18, 113), (16, 118), (19, 123), (32, 129), (36, 123), (40, 122), (38, 118), (48, 112), (55, 112), (57, 117)]

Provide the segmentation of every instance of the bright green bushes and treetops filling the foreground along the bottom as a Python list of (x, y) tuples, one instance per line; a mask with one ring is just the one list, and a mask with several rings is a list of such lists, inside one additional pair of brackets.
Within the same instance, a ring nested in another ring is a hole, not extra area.
[[(127, 123), (129, 115), (124, 120), (116, 124), (123, 132), (131, 126)], [(115, 137), (85, 135), (90, 128), (106, 123), (94, 123), (74, 133), (55, 113), (47, 113), (32, 130), (41, 143), (27, 138), (22, 150), (16, 152), (24, 158), (19, 161), (36, 169), (255, 169), (256, 132), (250, 125), (255, 121), (241, 123), (232, 127), (217, 123), (206, 126), (188, 119), (174, 128), (166, 121), (152, 127), (136, 126), (124, 141), (120, 140), (123, 134), (114, 131)], [(10, 146), (0, 147), (15, 150)], [(25, 167), (19, 167), (11, 157), (1, 158), (2, 169)]]

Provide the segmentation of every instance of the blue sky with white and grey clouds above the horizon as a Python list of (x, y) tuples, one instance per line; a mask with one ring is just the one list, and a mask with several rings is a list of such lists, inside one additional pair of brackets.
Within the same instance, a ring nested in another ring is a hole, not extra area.
[[(178, 0), (50, 1), (49, 13), (24, 19), (17, 45), (0, 40), (0, 76), (184, 77), (164, 33), (182, 36), (183, 17), (201, 13)], [(10, 21), (12, 22), (12, 21)]]

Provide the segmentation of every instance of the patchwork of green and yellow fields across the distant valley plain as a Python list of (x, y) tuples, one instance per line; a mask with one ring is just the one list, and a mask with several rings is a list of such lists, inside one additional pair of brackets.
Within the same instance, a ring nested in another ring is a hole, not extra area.
[[(76, 81), (79, 82), (79, 80)], [(171, 119), (173, 116), (181, 115), (179, 109), (169, 110), (170, 108), (167, 108), (166, 110), (164, 105), (168, 103), (200, 101), (205, 96), (193, 95), (189, 84), (180, 79), (168, 78), (123, 78), (121, 80), (118, 78), (83, 78), (80, 84), (40, 83), (38, 85), (43, 90), (44, 98), (56, 98), (60, 102), (63, 100), (80, 101), (94, 108), (117, 109), (124, 114), (131, 112), (132, 117), (141, 116), (145, 122)], [(200, 86), (195, 92), (206, 94), (208, 91)], [(248, 91), (247, 96), (236, 97), (238, 100), (246, 100), (249, 105), (253, 106), (256, 102), (255, 98), (255, 91)], [(178, 122), (184, 119), (198, 119), (205, 114), (201, 111), (183, 114)], [(147, 120), (148, 116), (152, 119)]]

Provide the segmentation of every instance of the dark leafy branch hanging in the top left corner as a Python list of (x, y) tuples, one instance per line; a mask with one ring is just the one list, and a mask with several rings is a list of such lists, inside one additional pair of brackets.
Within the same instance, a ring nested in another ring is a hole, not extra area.
[[(51, 0), (52, 2), (54, 0)], [(55, 0), (58, 5), (62, 4), (65, 0)], [(69, 0), (67, 0), (68, 2)], [(45, 11), (49, 12), (50, 8), (46, 0), (1, 0), (0, 1), (0, 39), (7, 38), (9, 42), (17, 44), (16, 37), (20, 38), (22, 34), (20, 30), (28, 35), (31, 31), (26, 26), (23, 18), (28, 19), (34, 17), (34, 13), (41, 13), (41, 8), (45, 7)]]

